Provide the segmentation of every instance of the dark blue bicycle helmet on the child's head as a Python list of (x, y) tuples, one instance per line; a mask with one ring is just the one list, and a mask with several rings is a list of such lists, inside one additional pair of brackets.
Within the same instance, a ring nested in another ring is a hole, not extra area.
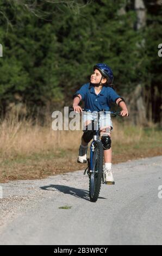
[(113, 71), (110, 69), (110, 67), (107, 64), (104, 63), (97, 63), (94, 66), (94, 70), (98, 69), (101, 74), (108, 79), (108, 83), (113, 83), (114, 75)]

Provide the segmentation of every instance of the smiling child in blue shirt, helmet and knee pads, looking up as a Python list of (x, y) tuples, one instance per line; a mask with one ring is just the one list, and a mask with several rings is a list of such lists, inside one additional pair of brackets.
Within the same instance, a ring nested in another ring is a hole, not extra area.
[[(107, 64), (98, 63), (94, 66), (94, 72), (91, 75), (90, 83), (84, 84), (73, 95), (73, 109), (80, 113), (82, 107), (78, 106), (81, 100), (84, 101), (84, 108), (90, 111), (110, 111), (111, 102), (115, 102), (122, 108), (121, 115), (128, 117), (128, 109), (124, 99), (120, 97), (113, 89), (114, 75), (113, 71)], [(88, 150), (88, 143), (93, 138), (93, 131), (89, 129), (92, 117), (84, 118), (84, 127), (82, 141), (79, 147), (79, 163), (86, 163), (86, 154)], [(104, 150), (104, 163), (105, 163), (105, 181), (108, 184), (114, 184), (113, 172), (111, 170), (111, 130), (113, 130), (113, 123), (110, 115), (100, 116), (99, 118), (100, 135)]]

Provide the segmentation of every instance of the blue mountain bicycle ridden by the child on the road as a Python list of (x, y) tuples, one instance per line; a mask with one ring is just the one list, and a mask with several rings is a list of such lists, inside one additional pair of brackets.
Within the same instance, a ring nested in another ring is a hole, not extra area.
[[(70, 108), (73, 110), (73, 108)], [(87, 173), (89, 176), (89, 197), (91, 202), (96, 202), (99, 196), (99, 192), (101, 189), (101, 183), (105, 184), (104, 173), (103, 173), (103, 145), (100, 137), (99, 131), (99, 116), (101, 112), (91, 112), (89, 109), (82, 109), (82, 111), (86, 111), (84, 114), (94, 114), (94, 119), (92, 120), (92, 127), (96, 127), (96, 129), (92, 129), (94, 131), (94, 137), (90, 145), (90, 159), (88, 161), (88, 167), (84, 170), (84, 175)], [(104, 111), (103, 114), (110, 113), (113, 115), (120, 115), (120, 112), (113, 111)], [(107, 182), (108, 184), (108, 182)]]

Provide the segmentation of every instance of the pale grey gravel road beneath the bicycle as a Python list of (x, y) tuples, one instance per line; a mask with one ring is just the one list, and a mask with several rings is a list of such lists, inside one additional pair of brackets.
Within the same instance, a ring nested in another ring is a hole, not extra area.
[(113, 170), (96, 203), (83, 170), (0, 184), (0, 245), (162, 245), (162, 156)]

